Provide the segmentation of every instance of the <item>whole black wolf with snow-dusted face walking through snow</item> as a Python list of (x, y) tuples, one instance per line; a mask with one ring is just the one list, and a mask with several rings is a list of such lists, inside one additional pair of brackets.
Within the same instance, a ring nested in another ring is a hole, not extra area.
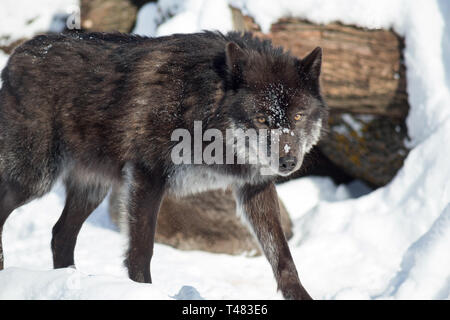
[[(272, 181), (297, 170), (319, 139), (327, 115), (321, 57), (317, 48), (299, 60), (270, 41), (233, 32), (33, 38), (2, 72), (0, 235), (14, 209), (62, 177), (67, 199), (53, 228), (53, 263), (74, 265), (83, 222), (118, 184), (129, 217), (125, 264), (132, 280), (149, 283), (164, 193), (229, 186), (278, 289), (285, 298), (309, 299), (280, 226)], [(174, 164), (171, 132), (192, 132), (196, 120), (221, 132), (281, 129), (279, 166), (262, 175), (267, 164)], [(1, 246), (0, 257), (2, 269)]]

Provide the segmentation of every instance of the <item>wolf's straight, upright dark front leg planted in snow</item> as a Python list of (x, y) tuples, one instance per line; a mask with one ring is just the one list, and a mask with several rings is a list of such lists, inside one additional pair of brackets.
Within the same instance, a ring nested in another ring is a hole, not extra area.
[(165, 190), (165, 179), (157, 172), (135, 166), (125, 206), (128, 211), (129, 248), (125, 265), (131, 280), (151, 283), (150, 260), (153, 255), (158, 211)]

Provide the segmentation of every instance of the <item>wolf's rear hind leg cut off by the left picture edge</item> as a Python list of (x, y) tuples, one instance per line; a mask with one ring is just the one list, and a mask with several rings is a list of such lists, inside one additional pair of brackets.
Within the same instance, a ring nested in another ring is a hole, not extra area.
[(0, 177), (0, 270), (3, 270), (3, 225), (11, 212), (22, 206), (32, 195), (27, 188), (21, 188), (16, 183), (6, 182)]

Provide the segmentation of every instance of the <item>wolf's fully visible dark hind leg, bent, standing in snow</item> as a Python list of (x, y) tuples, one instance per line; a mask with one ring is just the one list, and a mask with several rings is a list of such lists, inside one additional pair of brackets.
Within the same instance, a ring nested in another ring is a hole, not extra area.
[(73, 266), (74, 250), (81, 226), (106, 197), (109, 185), (99, 181), (81, 183), (76, 178), (65, 180), (66, 204), (53, 227), (53, 267)]

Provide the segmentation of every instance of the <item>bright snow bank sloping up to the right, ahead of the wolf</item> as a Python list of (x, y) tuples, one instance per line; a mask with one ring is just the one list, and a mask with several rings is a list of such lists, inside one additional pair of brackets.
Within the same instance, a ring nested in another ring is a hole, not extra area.
[[(294, 256), (302, 263), (304, 284), (320, 288), (312, 291), (313, 295), (449, 296), (450, 168), (448, 155), (436, 156), (448, 139), (449, 121), (411, 151), (389, 186), (359, 199), (322, 201), (296, 220), (298, 248)], [(433, 254), (437, 254), (437, 261)], [(400, 290), (411, 282), (415, 288), (409, 285), (410, 290)], [(350, 289), (351, 295), (347, 292)]]

